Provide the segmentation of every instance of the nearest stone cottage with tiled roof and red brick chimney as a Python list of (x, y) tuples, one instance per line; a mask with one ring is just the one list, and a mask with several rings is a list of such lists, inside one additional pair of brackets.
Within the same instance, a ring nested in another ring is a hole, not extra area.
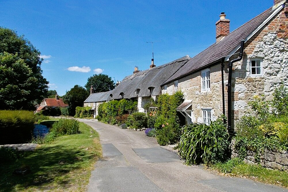
[(253, 95), (270, 98), (275, 87), (288, 85), (287, 16), (287, 0), (274, 0), (273, 7), (230, 33), (230, 20), (222, 12), (216, 42), (168, 78), (162, 93), (184, 93), (177, 110), (188, 124), (209, 124), (226, 114), (228, 130), (233, 131)]

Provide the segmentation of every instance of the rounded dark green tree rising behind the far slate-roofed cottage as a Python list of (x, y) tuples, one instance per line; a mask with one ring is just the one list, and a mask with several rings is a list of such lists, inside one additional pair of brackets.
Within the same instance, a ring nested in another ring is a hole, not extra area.
[(111, 77), (104, 74), (94, 74), (93, 76), (88, 78), (88, 81), (85, 85), (86, 90), (90, 91), (91, 84), (94, 88), (94, 93), (110, 91), (115, 88), (114, 81)]

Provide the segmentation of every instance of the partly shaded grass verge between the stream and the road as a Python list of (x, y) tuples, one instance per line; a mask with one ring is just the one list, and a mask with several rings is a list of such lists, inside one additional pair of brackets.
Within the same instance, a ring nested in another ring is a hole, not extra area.
[[(80, 123), (79, 131), (39, 145), (20, 159), (0, 162), (0, 191), (86, 191), (94, 163), (101, 156), (101, 144), (90, 126)], [(27, 174), (15, 174), (23, 168), (28, 169)]]

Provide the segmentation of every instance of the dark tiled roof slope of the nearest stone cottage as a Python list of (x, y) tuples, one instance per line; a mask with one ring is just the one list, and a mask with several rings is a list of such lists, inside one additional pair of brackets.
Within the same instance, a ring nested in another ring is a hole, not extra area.
[(190, 61), (188, 61), (185, 65), (183, 65), (183, 67), (181, 67), (163, 84), (191, 74), (194, 71), (208, 66), (216, 61), (219, 61), (222, 57), (227, 56), (234, 48), (240, 45), (241, 39), (245, 39), (247, 36), (249, 36), (249, 34), (257, 29), (257, 27), (261, 25), (261, 23), (264, 22), (264, 20), (268, 18), (272, 12), (272, 8), (264, 11), (238, 29), (226, 35), (220, 42), (214, 43), (204, 51), (200, 52), (198, 55), (190, 59)]

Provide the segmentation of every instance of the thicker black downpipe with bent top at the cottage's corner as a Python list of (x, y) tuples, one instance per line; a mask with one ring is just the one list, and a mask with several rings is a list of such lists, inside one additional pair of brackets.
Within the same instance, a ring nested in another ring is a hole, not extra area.
[(232, 97), (231, 97), (231, 87), (232, 87), (232, 66), (233, 63), (240, 61), (243, 58), (243, 51), (244, 51), (244, 43), (245, 40), (241, 40), (241, 47), (239, 57), (237, 59), (233, 59), (228, 64), (228, 133), (235, 134), (234, 129), (232, 130)]

